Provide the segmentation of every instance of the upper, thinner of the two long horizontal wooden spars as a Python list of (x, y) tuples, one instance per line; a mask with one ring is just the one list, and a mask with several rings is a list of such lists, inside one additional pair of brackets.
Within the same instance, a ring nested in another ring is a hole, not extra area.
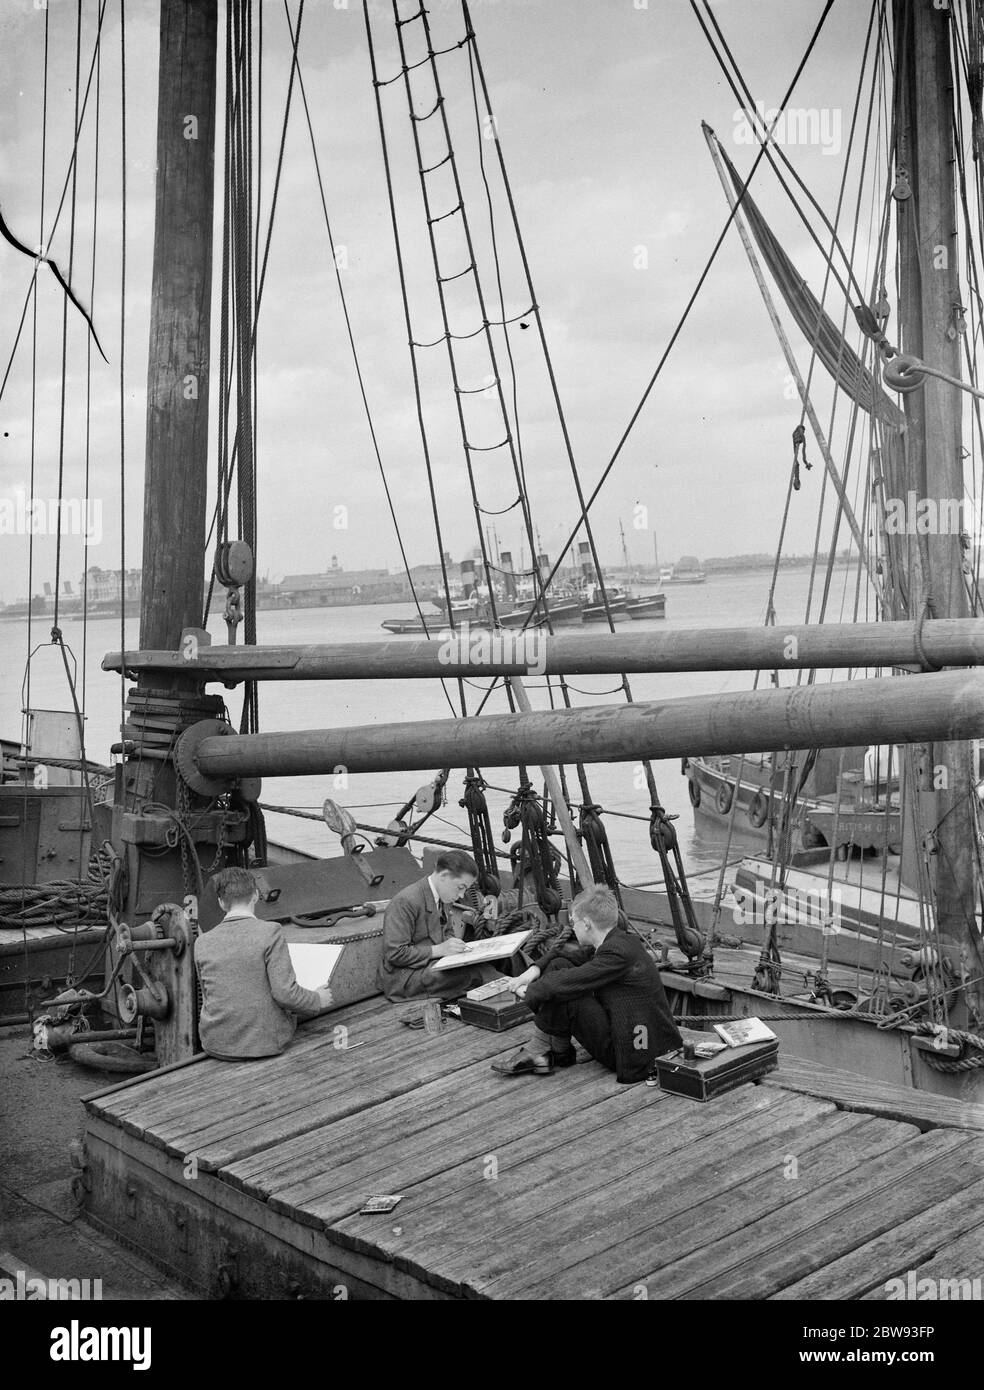
[(755, 671), (984, 664), (984, 619), (926, 623), (823, 623), (671, 632), (460, 634), (443, 641), (391, 638), (317, 646), (202, 646), (111, 652), (103, 670), (174, 671), (200, 681), (356, 681), (456, 676), (612, 676), (646, 671)]

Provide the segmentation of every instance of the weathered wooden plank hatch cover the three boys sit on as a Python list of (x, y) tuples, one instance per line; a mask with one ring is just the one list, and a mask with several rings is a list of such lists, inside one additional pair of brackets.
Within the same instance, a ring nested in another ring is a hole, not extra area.
[(525, 1030), (399, 1012), (89, 1097), (90, 1218), (215, 1297), (839, 1300), (945, 1248), (984, 1273), (974, 1108), (788, 1059), (706, 1105), (593, 1062), (505, 1080)]

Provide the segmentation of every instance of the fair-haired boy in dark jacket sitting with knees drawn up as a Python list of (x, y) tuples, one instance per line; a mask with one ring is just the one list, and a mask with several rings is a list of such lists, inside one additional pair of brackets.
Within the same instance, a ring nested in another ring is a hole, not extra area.
[(549, 1076), (574, 1062), (574, 1037), (616, 1080), (645, 1081), (655, 1058), (681, 1045), (659, 970), (635, 933), (618, 924), (610, 888), (582, 892), (571, 903), (571, 926), (577, 947), (548, 952), (513, 981), (534, 1012), (534, 1034), (492, 1070)]

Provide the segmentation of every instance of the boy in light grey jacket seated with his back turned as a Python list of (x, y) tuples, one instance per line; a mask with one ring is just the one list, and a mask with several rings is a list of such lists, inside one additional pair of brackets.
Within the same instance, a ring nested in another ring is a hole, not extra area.
[(331, 990), (297, 984), (279, 926), (253, 912), (260, 894), (247, 869), (222, 869), (213, 883), (225, 916), (195, 942), (202, 1047), (225, 1061), (275, 1056), (293, 1037), (295, 1013), (321, 1013)]

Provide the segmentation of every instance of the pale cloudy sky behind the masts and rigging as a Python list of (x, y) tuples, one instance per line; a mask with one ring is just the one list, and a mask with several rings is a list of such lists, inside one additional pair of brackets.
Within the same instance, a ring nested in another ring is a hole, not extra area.
[[(416, 0), (397, 3), (402, 15), (416, 8)], [(714, 4), (752, 93), (764, 108), (780, 101), (821, 11), (820, 0)], [(296, 24), (297, 0), (290, 0), (289, 13)], [(372, 0), (370, 13), (385, 79), (399, 67), (392, 7)], [(639, 404), (727, 217), (700, 122), (714, 126), (742, 174), (755, 149), (742, 143), (745, 126), (734, 96), (688, 0), (473, 0), (471, 14), (575, 464), (585, 492), (591, 492)], [(96, 0), (82, 0), (82, 88), (93, 56), (96, 17)], [(0, 208), (14, 234), (33, 247), (42, 239), (43, 190), (49, 252), (65, 271), (71, 261), (72, 284), (79, 299), (92, 306), (108, 357), (103, 363), (93, 354), (86, 366), (85, 324), (71, 309), (65, 322), (61, 292), (44, 267), (38, 278), (35, 343), (29, 296), (33, 263), (0, 242), (0, 371), (7, 374), (0, 396), (0, 506), (15, 507), (18, 496), (57, 496), (60, 470), (63, 495), (89, 499), (88, 552), (81, 537), (63, 539), (61, 575), (74, 587), (86, 556), (88, 563), (104, 569), (118, 569), (121, 553), (128, 567), (140, 564), (157, 6), (151, 0), (125, 0), (124, 18), (126, 306), (121, 349), (120, 0), (106, 3), (99, 90), (93, 76), (82, 125), (74, 239), (71, 190), (54, 235), (50, 228), (69, 167), (76, 6), (74, 0), (49, 0), (47, 11), (42, 0), (3, 0), (0, 6)], [(459, 0), (429, 0), (429, 18), (435, 47), (459, 42)], [(867, 18), (863, 0), (839, 0), (834, 6), (789, 103), (821, 118), (813, 143), (787, 142), (785, 153), (831, 215)], [(261, 15), (257, 13), (257, 40), (260, 19), (260, 221), (265, 234), (289, 75), (289, 35), (279, 0), (264, 0)], [(420, 24), (403, 32), (414, 61), (420, 54)], [(222, 42), (220, 32), (220, 51)], [(342, 249), (343, 288), (397, 523), (410, 563), (432, 563), (438, 542), (359, 0), (307, 0), (299, 56), (334, 239)], [(439, 64), (488, 317), (500, 317), (500, 307), (479, 150), (492, 192), (506, 317), (525, 314), (524, 321), (531, 322), (493, 142), (479, 139), (477, 129), (467, 56), (456, 50)], [(220, 63), (220, 76), (221, 68)], [(413, 76), (413, 86), (416, 108), (429, 110), (434, 92), (427, 68)], [(413, 332), (418, 342), (429, 342), (439, 338), (442, 325), (406, 92), (402, 82), (392, 82), (381, 93)], [(222, 101), (220, 83), (220, 111)], [(484, 118), (485, 106), (479, 103)], [(418, 122), (418, 129), (427, 163), (436, 163), (446, 153), (438, 121)], [(456, 203), (450, 167), (428, 175), (428, 181), (432, 210), (446, 213)], [(820, 293), (823, 263), (764, 163), (752, 192)], [(435, 239), (443, 274), (467, 264), (460, 217), (436, 224)], [(259, 571), (274, 580), (286, 573), (321, 571), (332, 556), (346, 569), (399, 569), (396, 534), (345, 335), (297, 93), (270, 247), (257, 329)], [(866, 254), (859, 252), (855, 265), (863, 282)], [(15, 346), (25, 304), (24, 331)], [(835, 286), (828, 306), (839, 321), (844, 300)], [(448, 309), (456, 331), (470, 332), (481, 324), (473, 277), (448, 285)], [(792, 328), (791, 336), (806, 366), (802, 336)], [(507, 342), (516, 368), (518, 443), (536, 541), (553, 560), (578, 516), (570, 463), (536, 332), (513, 324)], [(513, 374), (500, 331), (493, 345), (511, 409)], [(217, 360), (215, 303), (213, 363)], [(443, 545), (459, 560), (471, 553), (478, 535), (446, 348), (439, 343), (421, 349), (417, 360)], [(456, 368), (466, 389), (491, 379), (484, 335), (457, 346)], [(592, 507), (602, 557), (620, 562), (620, 524), (635, 563), (649, 562), (656, 553), (662, 562), (684, 553), (771, 553), (785, 500), (791, 434), (799, 423), (799, 404), (789, 396), (785, 363), (732, 229)], [(518, 512), (506, 510), (517, 496), (509, 450), (489, 448), (503, 438), (496, 393), (475, 392), (461, 399), (466, 432), (477, 446), (474, 488), (484, 524), (495, 527), (499, 543), (513, 550), (517, 564), (528, 563)], [(214, 404), (215, 392), (213, 417)], [(215, 441), (213, 418), (210, 475), (215, 470)], [(819, 478), (819, 468), (806, 474), (795, 496), (788, 552), (813, 549)], [(492, 516), (496, 512), (503, 514)], [(54, 574), (51, 537), (35, 537), (33, 552), (32, 587), (38, 592)], [(26, 537), (0, 534), (0, 600), (22, 598), (28, 589)]]

